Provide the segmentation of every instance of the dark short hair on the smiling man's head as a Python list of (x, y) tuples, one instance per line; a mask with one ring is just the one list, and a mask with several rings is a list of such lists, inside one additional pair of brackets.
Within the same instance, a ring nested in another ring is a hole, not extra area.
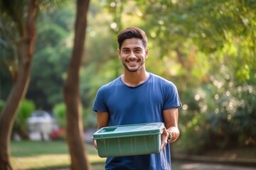
[(146, 38), (146, 33), (144, 32), (144, 30), (135, 28), (135, 27), (131, 27), (131, 28), (126, 28), (126, 29), (122, 30), (117, 35), (117, 42), (119, 45), (119, 50), (121, 49), (122, 43), (124, 42), (124, 40), (130, 39), (130, 38), (141, 39), (144, 47), (145, 48), (147, 47), (147, 38)]

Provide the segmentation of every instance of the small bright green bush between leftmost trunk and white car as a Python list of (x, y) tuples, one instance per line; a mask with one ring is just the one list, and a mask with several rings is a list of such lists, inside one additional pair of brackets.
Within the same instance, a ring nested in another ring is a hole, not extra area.
[(13, 134), (17, 133), (21, 139), (28, 139), (27, 122), (26, 120), (35, 110), (36, 106), (33, 101), (24, 99), (18, 109), (16, 120), (14, 123)]

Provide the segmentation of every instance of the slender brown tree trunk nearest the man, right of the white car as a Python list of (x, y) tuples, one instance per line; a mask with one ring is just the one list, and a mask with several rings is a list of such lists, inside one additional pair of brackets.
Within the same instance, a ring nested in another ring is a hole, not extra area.
[(68, 78), (63, 87), (63, 96), (67, 108), (67, 142), (70, 150), (71, 169), (73, 170), (90, 169), (82, 139), (82, 104), (79, 95), (79, 72), (84, 53), (88, 8), (89, 0), (77, 1), (73, 54), (68, 68)]

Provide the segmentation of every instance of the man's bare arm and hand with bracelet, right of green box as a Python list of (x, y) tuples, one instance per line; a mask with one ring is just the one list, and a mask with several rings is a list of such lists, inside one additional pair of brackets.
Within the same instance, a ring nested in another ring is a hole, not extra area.
[[(167, 140), (171, 135), (169, 142), (174, 142), (178, 139), (180, 134), (178, 130), (178, 108), (171, 108), (163, 112), (164, 116), (164, 131), (162, 134), (161, 148), (164, 148), (167, 144)], [(169, 131), (169, 132), (168, 132)]]

